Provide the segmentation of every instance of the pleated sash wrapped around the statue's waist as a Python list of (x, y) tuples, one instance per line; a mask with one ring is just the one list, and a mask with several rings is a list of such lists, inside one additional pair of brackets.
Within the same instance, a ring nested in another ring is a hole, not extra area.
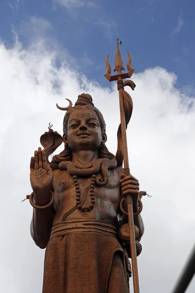
[(96, 232), (107, 236), (118, 236), (119, 227), (112, 221), (80, 220), (60, 222), (51, 229), (50, 239), (54, 236), (63, 236), (78, 232)]

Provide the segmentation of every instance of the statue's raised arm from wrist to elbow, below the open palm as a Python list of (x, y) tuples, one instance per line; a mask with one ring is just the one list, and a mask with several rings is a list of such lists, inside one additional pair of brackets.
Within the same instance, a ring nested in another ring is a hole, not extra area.
[[(42, 192), (41, 194), (34, 194), (34, 199), (37, 206), (45, 206), (49, 203), (50, 193)], [(49, 242), (52, 222), (52, 206), (48, 207), (47, 209), (33, 208), (32, 220), (30, 223), (30, 233), (36, 245), (42, 249), (46, 248)]]

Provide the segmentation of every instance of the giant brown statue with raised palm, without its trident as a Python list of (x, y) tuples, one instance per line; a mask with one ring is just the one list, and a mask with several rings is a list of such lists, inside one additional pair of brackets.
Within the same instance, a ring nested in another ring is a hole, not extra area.
[[(41, 136), (44, 150), (39, 147), (30, 162), (30, 231), (36, 245), (46, 248), (43, 293), (128, 293), (132, 248), (120, 202), (132, 196), (136, 212), (146, 192), (124, 175), (120, 128), (117, 157), (107, 149), (105, 122), (90, 95), (58, 108), (67, 110), (63, 138), (49, 129)], [(62, 140), (64, 150), (49, 163)], [(139, 255), (144, 224), (138, 212), (134, 224)]]

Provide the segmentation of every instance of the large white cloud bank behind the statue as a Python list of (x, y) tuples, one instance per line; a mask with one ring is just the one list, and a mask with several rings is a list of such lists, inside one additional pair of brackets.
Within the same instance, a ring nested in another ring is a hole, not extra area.
[[(0, 291), (41, 292), (44, 251), (29, 233), (32, 208), (20, 201), (31, 192), (29, 160), (49, 122), (62, 134), (63, 115), (55, 104), (90, 93), (107, 124), (107, 146), (116, 152), (120, 122), (118, 91), (103, 88), (70, 69), (57, 68), (56, 51), (44, 42), (24, 49), (0, 44), (1, 233)], [(179, 91), (176, 76), (156, 67), (135, 74), (128, 126), (131, 172), (152, 198), (144, 198), (146, 232), (138, 258), (141, 291), (171, 292), (195, 242), (195, 104)], [(128, 90), (128, 89), (127, 89)], [(129, 91), (129, 90), (128, 90)], [(108, 110), (109, 109), (109, 110)], [(58, 150), (60, 151), (61, 148)], [(33, 276), (33, 277), (32, 277)], [(195, 292), (195, 283), (188, 293)]]

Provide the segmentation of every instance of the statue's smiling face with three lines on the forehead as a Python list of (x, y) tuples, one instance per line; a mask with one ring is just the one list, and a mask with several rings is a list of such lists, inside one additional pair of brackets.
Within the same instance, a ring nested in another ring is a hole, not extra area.
[(72, 151), (97, 151), (102, 141), (102, 133), (93, 109), (75, 109), (69, 116), (67, 134), (64, 139)]

